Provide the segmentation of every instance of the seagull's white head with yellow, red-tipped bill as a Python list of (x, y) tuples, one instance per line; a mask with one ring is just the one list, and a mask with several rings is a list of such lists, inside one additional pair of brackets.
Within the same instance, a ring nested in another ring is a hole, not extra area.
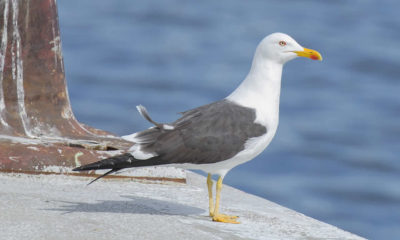
[(273, 33), (266, 36), (257, 48), (262, 58), (284, 64), (296, 57), (307, 57), (322, 61), (319, 52), (304, 48), (292, 37), (284, 33)]

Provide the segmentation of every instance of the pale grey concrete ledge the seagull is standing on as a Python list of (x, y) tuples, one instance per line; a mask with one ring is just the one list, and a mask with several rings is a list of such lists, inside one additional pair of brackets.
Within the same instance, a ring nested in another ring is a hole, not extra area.
[(265, 199), (224, 186), (221, 212), (207, 217), (205, 178), (187, 184), (0, 173), (4, 239), (363, 239)]

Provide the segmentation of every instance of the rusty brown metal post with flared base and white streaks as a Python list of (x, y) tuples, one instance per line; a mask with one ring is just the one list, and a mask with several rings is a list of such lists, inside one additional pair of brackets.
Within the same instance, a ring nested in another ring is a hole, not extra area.
[(130, 145), (75, 119), (55, 0), (0, 0), (0, 171), (63, 173)]

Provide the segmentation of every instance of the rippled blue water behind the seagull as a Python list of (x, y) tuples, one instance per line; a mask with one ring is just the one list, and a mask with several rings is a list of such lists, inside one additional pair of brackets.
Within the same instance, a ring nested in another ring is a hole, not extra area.
[(280, 126), (225, 183), (370, 239), (400, 239), (400, 1), (58, 1), (76, 117), (116, 134), (227, 96), (272, 32), (320, 51), (285, 66)]

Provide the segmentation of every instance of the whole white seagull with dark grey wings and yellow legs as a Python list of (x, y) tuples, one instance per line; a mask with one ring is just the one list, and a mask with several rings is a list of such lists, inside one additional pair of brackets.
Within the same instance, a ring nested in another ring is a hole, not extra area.
[[(212, 220), (240, 223), (237, 216), (219, 212), (222, 181), (229, 170), (252, 160), (271, 142), (279, 121), (282, 68), (297, 57), (322, 60), (320, 53), (284, 33), (266, 36), (257, 46), (248, 75), (229, 96), (182, 112), (172, 123), (155, 122), (139, 105), (139, 113), (154, 126), (123, 136), (132, 142), (126, 153), (73, 171), (110, 169), (94, 182), (123, 168), (168, 165), (202, 170), (208, 173)], [(212, 175), (218, 176), (215, 204)]]

